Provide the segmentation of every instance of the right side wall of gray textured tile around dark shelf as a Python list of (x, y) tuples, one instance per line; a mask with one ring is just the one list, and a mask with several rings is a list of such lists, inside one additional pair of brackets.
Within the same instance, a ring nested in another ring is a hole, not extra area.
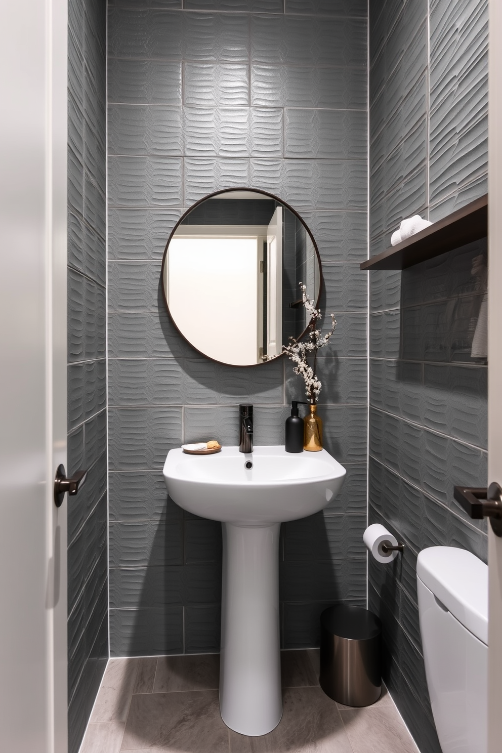
[[(403, 218), (434, 221), (485, 194), (487, 43), (486, 2), (370, 5), (370, 255)], [(486, 560), (485, 524), (452, 494), (486, 483), (487, 368), (472, 355), (485, 254), (483, 240), (403, 273), (370, 273), (369, 517), (406, 550), (385, 568), (370, 560), (369, 603), (384, 623), (385, 681), (424, 753), (440, 745), (416, 558), (450, 545)]]

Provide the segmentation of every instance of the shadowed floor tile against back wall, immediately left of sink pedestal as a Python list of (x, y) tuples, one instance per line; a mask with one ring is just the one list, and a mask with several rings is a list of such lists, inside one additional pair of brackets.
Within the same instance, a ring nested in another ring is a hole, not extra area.
[(159, 657), (154, 693), (218, 690), (220, 654)]

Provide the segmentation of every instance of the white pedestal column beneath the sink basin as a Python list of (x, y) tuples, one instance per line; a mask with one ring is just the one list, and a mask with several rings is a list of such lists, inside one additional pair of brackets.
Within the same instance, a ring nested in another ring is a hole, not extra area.
[(222, 523), (221, 718), (265, 735), (282, 716), (278, 548), (280, 523)]

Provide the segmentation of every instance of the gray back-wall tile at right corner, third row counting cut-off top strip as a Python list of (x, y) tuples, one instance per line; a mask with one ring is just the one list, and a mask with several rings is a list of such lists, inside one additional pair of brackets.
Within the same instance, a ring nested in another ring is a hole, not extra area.
[(257, 64), (251, 66), (251, 105), (365, 110), (367, 71)]

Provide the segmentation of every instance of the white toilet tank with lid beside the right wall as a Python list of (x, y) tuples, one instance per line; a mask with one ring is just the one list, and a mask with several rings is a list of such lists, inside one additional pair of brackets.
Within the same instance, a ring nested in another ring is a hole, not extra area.
[(464, 549), (418, 554), (425, 674), (443, 753), (486, 753), (488, 567)]

